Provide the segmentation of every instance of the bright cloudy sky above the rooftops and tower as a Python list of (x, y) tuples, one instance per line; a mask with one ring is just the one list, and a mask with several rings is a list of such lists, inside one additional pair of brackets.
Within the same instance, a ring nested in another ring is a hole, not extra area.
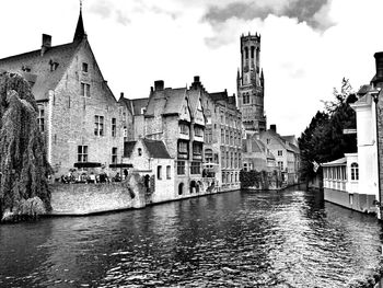
[[(1, 1), (0, 58), (72, 41), (78, 0)], [(268, 125), (309, 125), (344, 77), (357, 90), (383, 50), (382, 0), (84, 0), (85, 31), (116, 97), (146, 97), (154, 80), (236, 93), (240, 36), (262, 34)]]

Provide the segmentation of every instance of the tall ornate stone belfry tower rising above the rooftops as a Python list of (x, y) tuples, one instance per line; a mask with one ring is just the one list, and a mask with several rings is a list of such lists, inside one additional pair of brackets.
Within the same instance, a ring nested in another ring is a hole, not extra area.
[(241, 72), (236, 76), (237, 103), (248, 134), (266, 130), (264, 71), (260, 70), (260, 35), (241, 36)]

